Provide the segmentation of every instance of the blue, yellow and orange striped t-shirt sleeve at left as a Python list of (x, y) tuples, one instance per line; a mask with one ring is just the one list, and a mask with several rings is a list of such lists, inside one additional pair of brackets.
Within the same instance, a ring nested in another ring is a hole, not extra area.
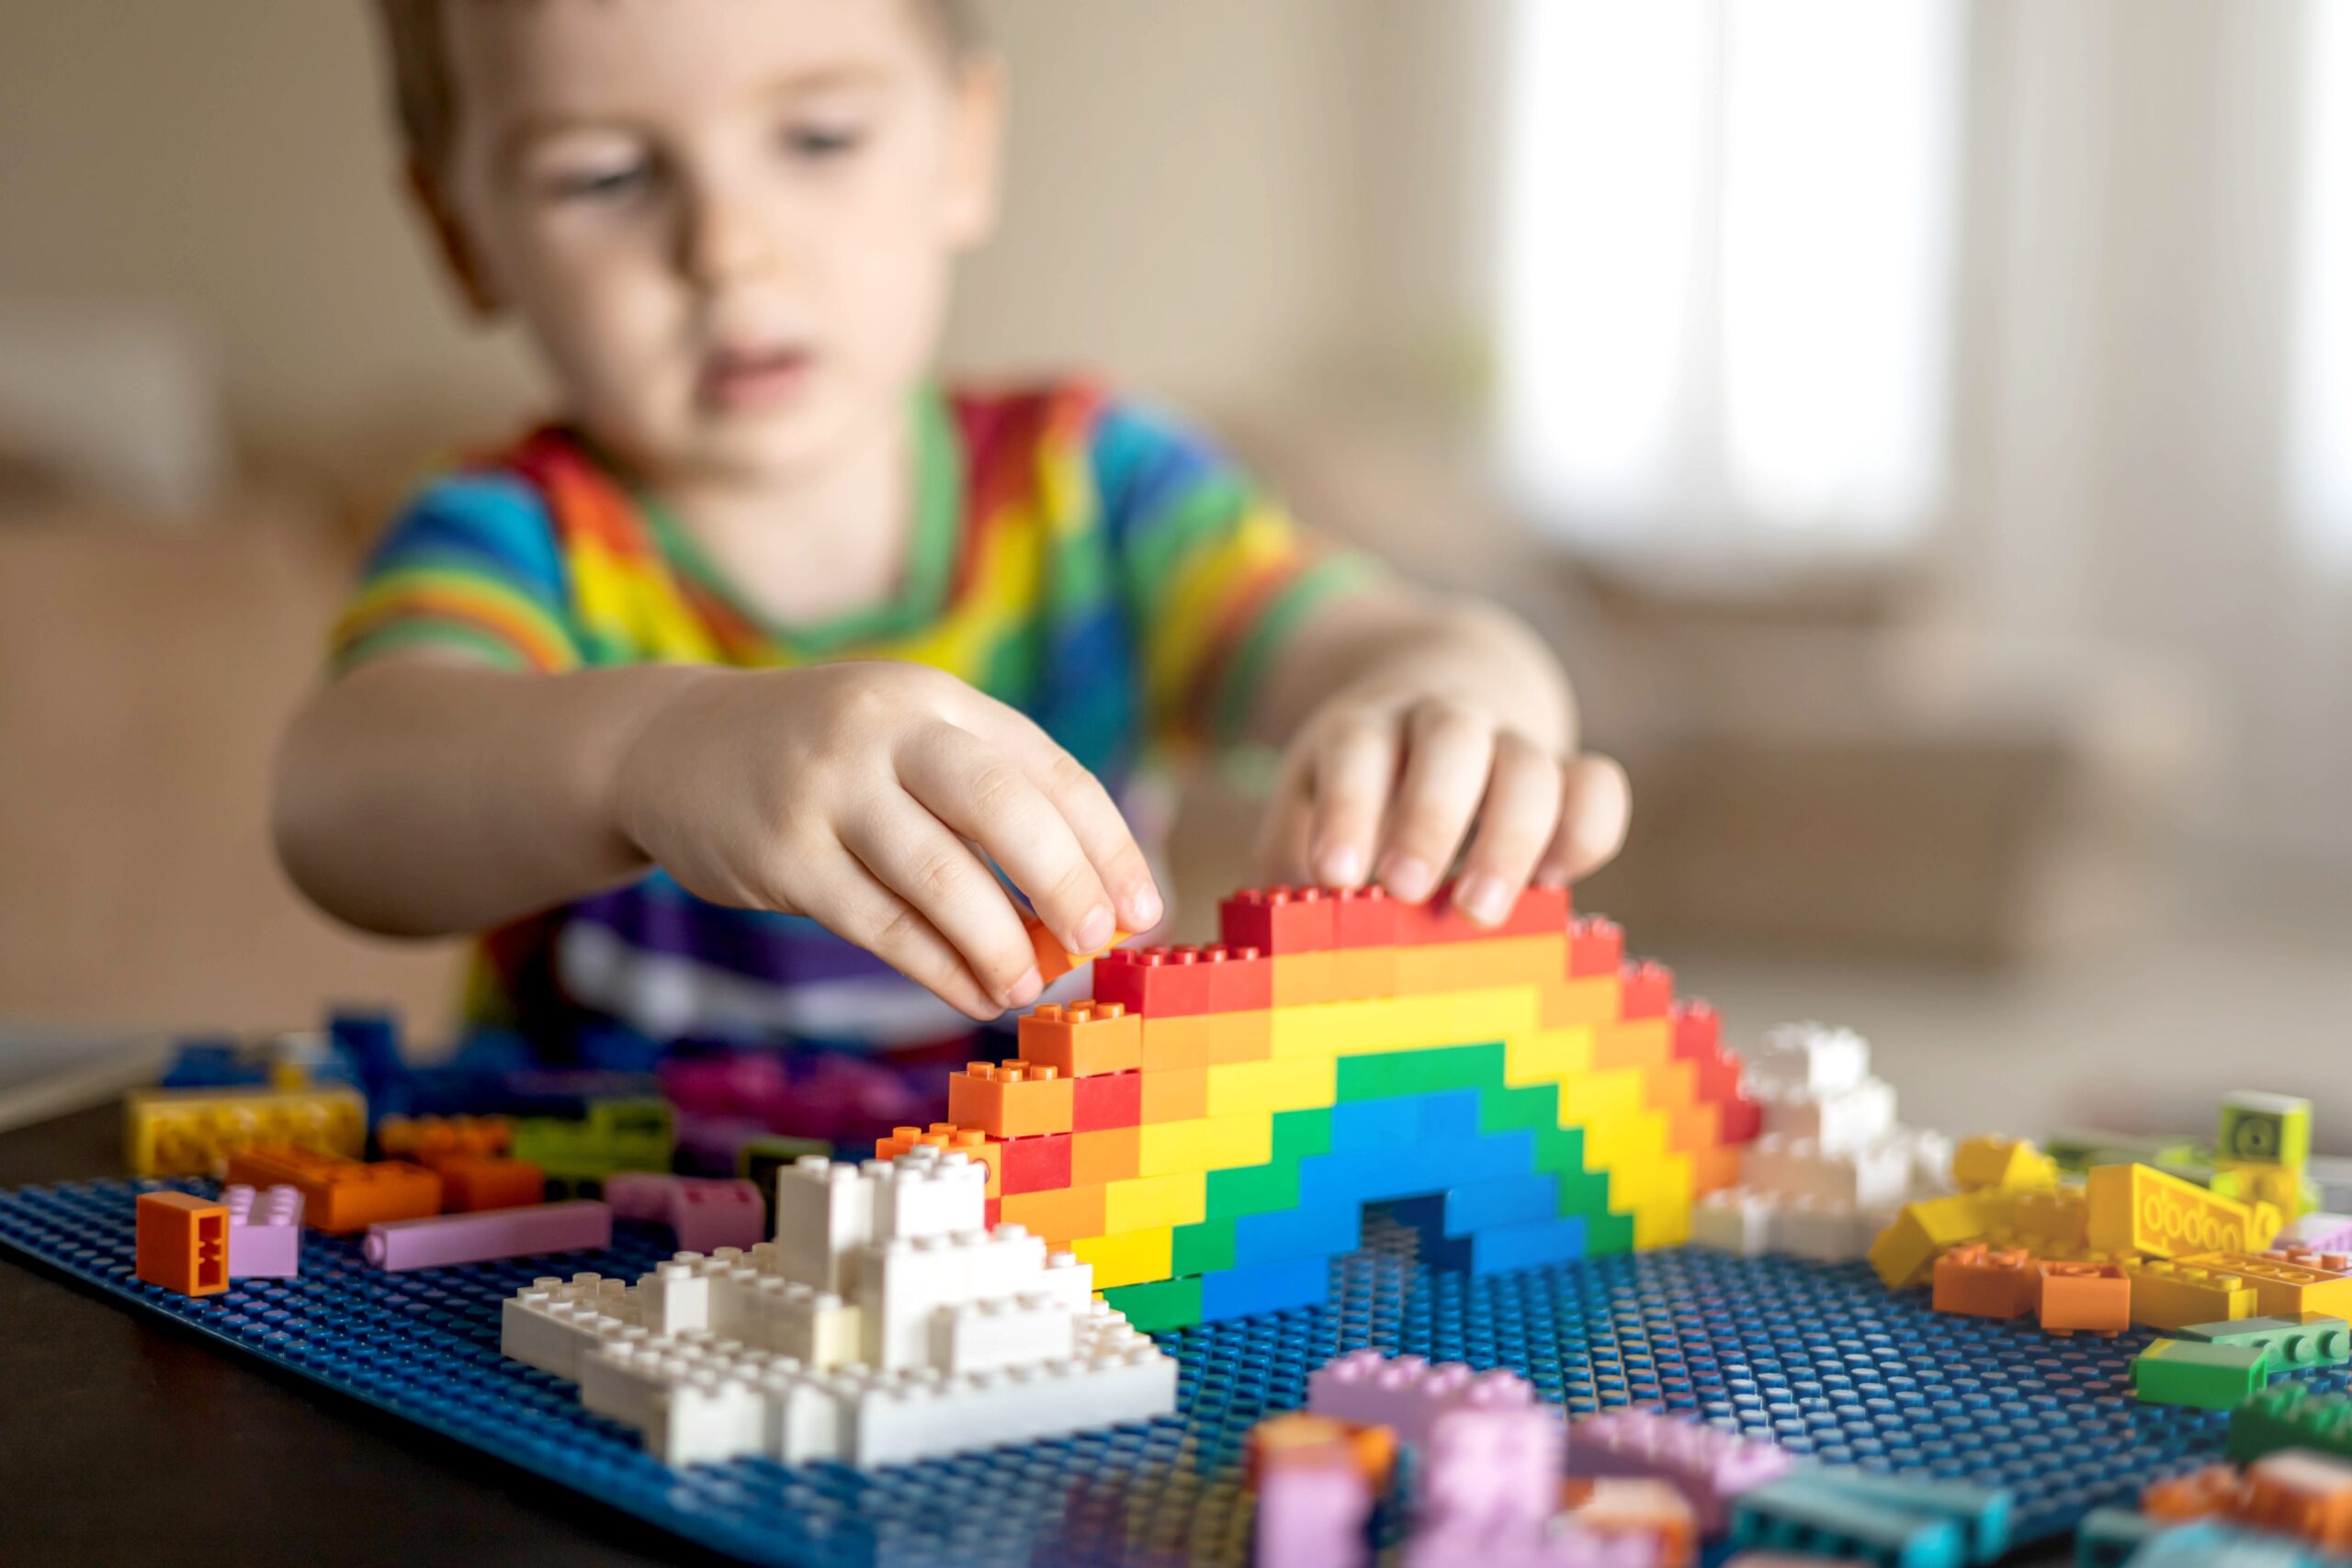
[(581, 665), (562, 552), (539, 494), (506, 473), (428, 484), (386, 529), (334, 625), (336, 672), (407, 646), (473, 654), (508, 670)]

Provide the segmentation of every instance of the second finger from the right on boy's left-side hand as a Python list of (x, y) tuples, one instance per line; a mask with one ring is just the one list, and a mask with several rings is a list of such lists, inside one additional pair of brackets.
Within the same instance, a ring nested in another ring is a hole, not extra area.
[(1004, 867), (1068, 952), (1110, 945), (1120, 914), (1061, 809), (1000, 748), (941, 724), (898, 759), (898, 783)]

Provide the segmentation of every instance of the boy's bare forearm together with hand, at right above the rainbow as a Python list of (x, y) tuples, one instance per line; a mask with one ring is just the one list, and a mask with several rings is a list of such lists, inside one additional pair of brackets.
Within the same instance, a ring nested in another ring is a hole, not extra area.
[(1270, 875), (1376, 879), (1498, 922), (1534, 879), (1566, 884), (1625, 839), (1625, 771), (1578, 752), (1576, 698), (1524, 623), (1381, 581), (1315, 604), (1268, 661), (1247, 733), (1284, 745)]

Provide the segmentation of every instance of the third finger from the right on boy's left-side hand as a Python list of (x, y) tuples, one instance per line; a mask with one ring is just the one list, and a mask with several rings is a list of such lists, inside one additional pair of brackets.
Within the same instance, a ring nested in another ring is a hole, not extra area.
[(842, 825), (842, 846), (948, 938), (993, 1013), (1028, 1006), (1044, 990), (1011, 896), (936, 816), (891, 795)]

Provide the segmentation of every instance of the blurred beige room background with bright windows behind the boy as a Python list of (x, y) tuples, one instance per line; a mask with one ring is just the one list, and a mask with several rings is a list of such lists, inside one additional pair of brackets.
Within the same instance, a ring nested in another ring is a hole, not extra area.
[[(988, 14), (1011, 190), (955, 364), (1183, 402), (1534, 616), (1637, 780), (1588, 907), (1959, 1119), (2039, 1074), (2201, 1126), (2249, 1046), (2314, 1086), (2352, 1004), (2336, 7)], [(0, 0), (0, 1020), (447, 999), (449, 954), (285, 891), (266, 748), (365, 531), (536, 397), (426, 268), (362, 5)], [(1192, 910), (1244, 820), (1202, 790)]]

